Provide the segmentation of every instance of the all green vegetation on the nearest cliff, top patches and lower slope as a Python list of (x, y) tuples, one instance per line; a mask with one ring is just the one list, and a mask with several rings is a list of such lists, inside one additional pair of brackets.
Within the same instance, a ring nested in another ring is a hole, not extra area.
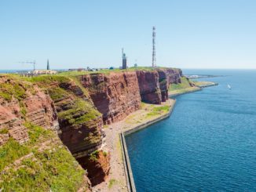
[[(86, 172), (61, 143), (57, 132), (32, 125), (25, 118), (23, 100), (33, 91), (33, 85), (23, 78), (14, 75), (2, 78), (0, 97), (5, 104), (18, 100), (20, 111), (16, 113), (22, 114), (21, 122), (29, 139), (20, 144), (9, 135), (0, 146), (0, 191), (77, 191), (80, 187), (86, 190), (89, 186), (84, 180)], [(0, 136), (7, 134), (9, 129), (2, 125)]]

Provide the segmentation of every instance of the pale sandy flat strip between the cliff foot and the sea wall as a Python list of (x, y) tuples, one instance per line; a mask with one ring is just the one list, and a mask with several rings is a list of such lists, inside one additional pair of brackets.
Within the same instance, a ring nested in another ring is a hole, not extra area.
[(161, 117), (166, 116), (170, 111), (151, 115), (153, 108), (163, 106), (170, 106), (170, 108), (172, 108), (174, 107), (174, 103), (175, 100), (171, 99), (161, 105), (143, 103), (141, 110), (137, 110), (128, 115), (123, 121), (105, 127), (106, 148), (104, 150), (108, 150), (111, 154), (111, 170), (108, 179), (96, 187), (93, 187), (93, 191), (128, 191), (119, 134), (137, 127), (144, 128), (149, 125), (148, 122), (153, 123), (155, 120), (160, 121), (162, 119)]

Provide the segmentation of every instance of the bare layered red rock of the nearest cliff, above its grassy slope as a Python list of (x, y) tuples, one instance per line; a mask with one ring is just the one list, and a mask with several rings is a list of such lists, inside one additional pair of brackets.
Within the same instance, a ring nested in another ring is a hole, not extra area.
[[(31, 85), (22, 85), (11, 78), (0, 78), (1, 92), (9, 93), (6, 87), (20, 89), (25, 92), (24, 99), (18, 100), (12, 96), (11, 100), (6, 100), (0, 96), (0, 131), (8, 130), (8, 132), (0, 134), (0, 145), (6, 143), (9, 137), (12, 137), (19, 143), (28, 140), (27, 129), (24, 126), (25, 119), (31, 121), (34, 125), (42, 125), (48, 129), (58, 129), (57, 114), (50, 97)], [(33, 90), (31, 92), (31, 90)], [(14, 94), (14, 93), (13, 93)]]

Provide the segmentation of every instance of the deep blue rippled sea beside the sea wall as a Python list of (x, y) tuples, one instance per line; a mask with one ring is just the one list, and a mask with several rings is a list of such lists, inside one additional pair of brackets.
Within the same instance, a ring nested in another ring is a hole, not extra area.
[(229, 76), (205, 79), (219, 85), (177, 96), (170, 118), (126, 136), (137, 191), (256, 191), (256, 71), (184, 74)]

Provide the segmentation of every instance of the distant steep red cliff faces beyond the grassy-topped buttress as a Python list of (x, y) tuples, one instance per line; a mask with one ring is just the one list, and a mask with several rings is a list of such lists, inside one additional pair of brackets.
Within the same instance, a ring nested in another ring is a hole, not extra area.
[(170, 83), (178, 83), (181, 71), (157, 69), (82, 75), (80, 82), (103, 115), (105, 124), (120, 121), (139, 109), (141, 101), (159, 104), (168, 100)]

